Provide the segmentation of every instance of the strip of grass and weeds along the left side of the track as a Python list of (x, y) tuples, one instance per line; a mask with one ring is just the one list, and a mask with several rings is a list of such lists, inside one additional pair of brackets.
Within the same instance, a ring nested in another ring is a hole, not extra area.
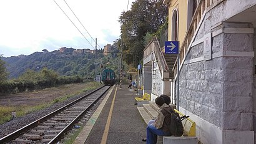
[[(87, 92), (88, 90), (94, 90), (97, 89), (98, 87), (101, 87), (103, 84), (99, 84), (98, 82), (88, 82), (85, 85), (85, 89), (82, 90), (77, 90), (77, 92), (74, 92), (73, 94), (70, 95), (65, 95), (63, 97), (56, 98), (52, 100), (52, 102), (49, 103), (42, 103), (39, 105), (31, 106), (31, 105), (20, 105), (18, 107), (14, 106), (0, 106), (0, 125), (2, 123), (8, 122), (11, 120), (11, 113), (16, 112), (16, 117), (21, 117), (23, 115), (26, 115), (31, 112), (36, 112), (38, 110), (42, 110), (43, 108), (49, 107), (53, 105), (54, 103), (58, 102), (63, 102), (64, 100), (67, 100), (70, 97), (74, 97), (76, 95), (82, 94), (84, 92)], [(72, 87), (72, 85), (69, 85)], [(53, 89), (54, 90), (54, 89)]]

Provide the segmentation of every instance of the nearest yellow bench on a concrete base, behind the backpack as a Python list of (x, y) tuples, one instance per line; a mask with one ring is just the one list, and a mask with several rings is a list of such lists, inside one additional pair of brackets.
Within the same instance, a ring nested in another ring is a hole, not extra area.
[[(175, 109), (175, 112), (179, 113), (180, 117), (184, 116), (183, 113)], [(172, 144), (197, 144), (198, 139), (195, 137), (195, 122), (190, 118), (185, 118), (182, 120), (182, 125), (184, 128), (184, 133), (182, 137), (163, 137), (163, 143), (172, 143)]]

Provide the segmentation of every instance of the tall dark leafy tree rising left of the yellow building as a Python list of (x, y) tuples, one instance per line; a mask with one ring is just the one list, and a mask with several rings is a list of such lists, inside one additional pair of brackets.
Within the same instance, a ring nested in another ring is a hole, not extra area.
[(154, 33), (167, 20), (168, 7), (162, 1), (137, 0), (130, 11), (123, 11), (119, 17), (123, 59), (134, 66), (143, 59), (144, 37)]

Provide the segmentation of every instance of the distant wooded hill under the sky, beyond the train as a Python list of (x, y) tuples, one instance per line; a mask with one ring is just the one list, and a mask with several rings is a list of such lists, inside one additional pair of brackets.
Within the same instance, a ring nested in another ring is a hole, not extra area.
[[(117, 49), (112, 49), (116, 51)], [(43, 49), (42, 52), (34, 52), (31, 55), (19, 55), (12, 57), (2, 57), (6, 62), (9, 79), (19, 77), (27, 69), (39, 71), (43, 67), (55, 70), (59, 75), (81, 75), (82, 77), (94, 77), (94, 68), (99, 74), (100, 69), (106, 67), (114, 69), (116, 72), (119, 67), (115, 65), (119, 57), (117, 54), (103, 54), (103, 50), (96, 51), (90, 49), (73, 49), (62, 47), (59, 50), (48, 52)], [(97, 64), (97, 65), (96, 65)], [(100, 68), (99, 65), (103, 65)], [(106, 65), (109, 64), (109, 65)]]

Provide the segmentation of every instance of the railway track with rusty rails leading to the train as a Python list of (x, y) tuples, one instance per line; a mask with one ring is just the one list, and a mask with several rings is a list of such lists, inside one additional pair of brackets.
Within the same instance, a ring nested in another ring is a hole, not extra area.
[(104, 86), (0, 138), (0, 143), (57, 143), (107, 92)]

